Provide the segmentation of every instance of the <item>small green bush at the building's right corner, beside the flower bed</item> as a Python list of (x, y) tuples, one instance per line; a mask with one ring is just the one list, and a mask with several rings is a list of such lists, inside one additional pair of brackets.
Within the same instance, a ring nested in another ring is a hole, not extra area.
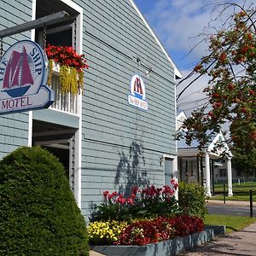
[(197, 184), (179, 183), (178, 207), (183, 214), (205, 218), (207, 207), (205, 206), (206, 191)]

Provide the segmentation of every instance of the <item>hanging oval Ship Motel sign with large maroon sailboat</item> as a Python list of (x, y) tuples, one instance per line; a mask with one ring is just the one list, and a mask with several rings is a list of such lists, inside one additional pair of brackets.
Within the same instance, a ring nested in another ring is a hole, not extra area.
[(0, 61), (0, 114), (49, 107), (54, 96), (46, 86), (47, 63), (44, 50), (30, 40), (5, 52)]

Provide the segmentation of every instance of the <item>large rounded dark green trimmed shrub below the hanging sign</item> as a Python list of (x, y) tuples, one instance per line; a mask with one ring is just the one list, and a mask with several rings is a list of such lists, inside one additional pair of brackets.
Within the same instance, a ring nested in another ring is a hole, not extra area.
[(0, 255), (88, 255), (65, 169), (42, 148), (18, 148), (0, 161), (0, 216)]

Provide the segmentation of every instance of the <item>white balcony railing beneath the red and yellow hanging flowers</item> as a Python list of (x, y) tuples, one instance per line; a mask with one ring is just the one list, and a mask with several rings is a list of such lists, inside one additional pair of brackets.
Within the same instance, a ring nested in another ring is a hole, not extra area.
[(61, 93), (60, 69), (58, 65), (54, 65), (53, 70), (50, 87), (55, 92), (55, 102), (53, 102), (50, 108), (66, 113), (79, 114), (79, 96), (72, 93)]

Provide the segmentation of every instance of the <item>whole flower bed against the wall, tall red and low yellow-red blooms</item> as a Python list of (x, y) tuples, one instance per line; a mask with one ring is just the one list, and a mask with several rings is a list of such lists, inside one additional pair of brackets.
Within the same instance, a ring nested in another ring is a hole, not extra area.
[[(131, 189), (131, 195), (127, 196), (117, 192), (103, 192), (104, 201), (90, 219), (90, 245), (96, 246), (93, 248), (101, 253), (106, 253), (102, 250), (112, 250), (109, 255), (150, 255), (142, 254), (142, 250), (149, 252), (152, 247), (153, 251), (155, 247), (164, 249), (173, 242), (182, 244), (183, 237), (189, 236), (186, 239), (190, 241), (191, 237), (197, 236), (195, 234), (202, 234), (203, 220), (180, 211), (174, 198), (177, 183), (172, 181), (171, 186), (156, 188), (151, 185), (147, 189), (135, 187)], [(212, 230), (207, 232), (211, 233)], [(201, 236), (207, 237), (198, 235)], [(201, 242), (200, 239), (198, 242)], [(193, 244), (196, 243), (193, 241)], [(112, 247), (131, 249), (127, 249), (127, 254), (114, 254), (113, 249), (109, 249)], [(136, 249), (139, 254), (133, 252), (137, 247), (141, 247)]]

